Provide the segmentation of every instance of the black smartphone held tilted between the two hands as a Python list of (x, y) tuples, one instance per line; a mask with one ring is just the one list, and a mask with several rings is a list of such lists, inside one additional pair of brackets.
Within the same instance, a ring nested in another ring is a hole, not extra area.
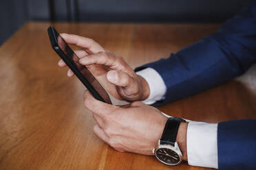
[(104, 101), (107, 104), (111, 104), (111, 100), (106, 90), (96, 80), (94, 75), (87, 69), (86, 66), (81, 65), (76, 53), (72, 51), (70, 46), (67, 45), (65, 40), (56, 32), (54, 27), (50, 26), (48, 29), (48, 35), (52, 48), (58, 56), (67, 64), (67, 66), (73, 71), (78, 79), (85, 85), (87, 90), (94, 96), (95, 99)]

